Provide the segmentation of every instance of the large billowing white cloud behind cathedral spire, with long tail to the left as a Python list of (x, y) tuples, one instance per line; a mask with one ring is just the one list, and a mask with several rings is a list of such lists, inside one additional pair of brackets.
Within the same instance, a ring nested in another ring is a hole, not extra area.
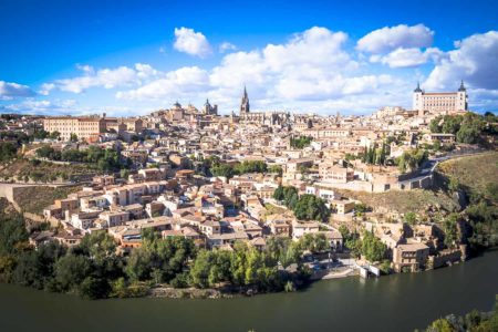
[(204, 94), (232, 103), (248, 84), (252, 97), (271, 104), (269, 101), (320, 101), (372, 93), (393, 83), (390, 75), (359, 72), (360, 65), (344, 50), (346, 40), (344, 32), (313, 27), (282, 44), (228, 53), (210, 71), (179, 69), (138, 89), (121, 91), (116, 97), (157, 100)]

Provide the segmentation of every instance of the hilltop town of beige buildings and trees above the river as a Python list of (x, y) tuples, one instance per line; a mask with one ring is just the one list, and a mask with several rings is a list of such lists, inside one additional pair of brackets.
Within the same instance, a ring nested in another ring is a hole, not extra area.
[[(366, 116), (255, 112), (246, 89), (229, 115), (209, 101), (133, 117), (6, 114), (2, 196), (28, 221), (31, 248), (125, 266), (104, 280), (105, 297), (144, 282), (252, 292), (416, 272), (497, 243), (497, 122), (469, 110), (464, 82), (447, 93), (417, 85), (412, 110)], [(465, 183), (458, 160), (488, 165), (489, 183)], [(22, 279), (15, 269), (0, 273)], [(53, 278), (61, 291), (79, 287)], [(102, 297), (92, 288), (102, 274), (79, 278)]]

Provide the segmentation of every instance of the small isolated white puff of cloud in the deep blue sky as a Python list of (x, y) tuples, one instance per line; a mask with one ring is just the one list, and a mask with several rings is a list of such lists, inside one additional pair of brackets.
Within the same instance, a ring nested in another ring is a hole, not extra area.
[(201, 32), (195, 32), (194, 29), (175, 28), (175, 50), (190, 55), (205, 58), (211, 54), (211, 46)]

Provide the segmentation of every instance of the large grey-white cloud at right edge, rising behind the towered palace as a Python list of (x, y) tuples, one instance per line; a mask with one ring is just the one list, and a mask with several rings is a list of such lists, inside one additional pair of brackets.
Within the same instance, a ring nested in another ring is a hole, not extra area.
[(425, 87), (454, 90), (464, 80), (475, 89), (498, 90), (498, 31), (470, 35), (455, 46), (430, 72)]

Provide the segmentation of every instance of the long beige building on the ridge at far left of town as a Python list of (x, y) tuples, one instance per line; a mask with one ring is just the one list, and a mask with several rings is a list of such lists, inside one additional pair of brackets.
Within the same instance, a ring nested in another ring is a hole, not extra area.
[(61, 133), (63, 141), (70, 141), (71, 134), (76, 134), (79, 139), (94, 141), (105, 132), (105, 121), (98, 116), (54, 116), (43, 120), (43, 129)]

